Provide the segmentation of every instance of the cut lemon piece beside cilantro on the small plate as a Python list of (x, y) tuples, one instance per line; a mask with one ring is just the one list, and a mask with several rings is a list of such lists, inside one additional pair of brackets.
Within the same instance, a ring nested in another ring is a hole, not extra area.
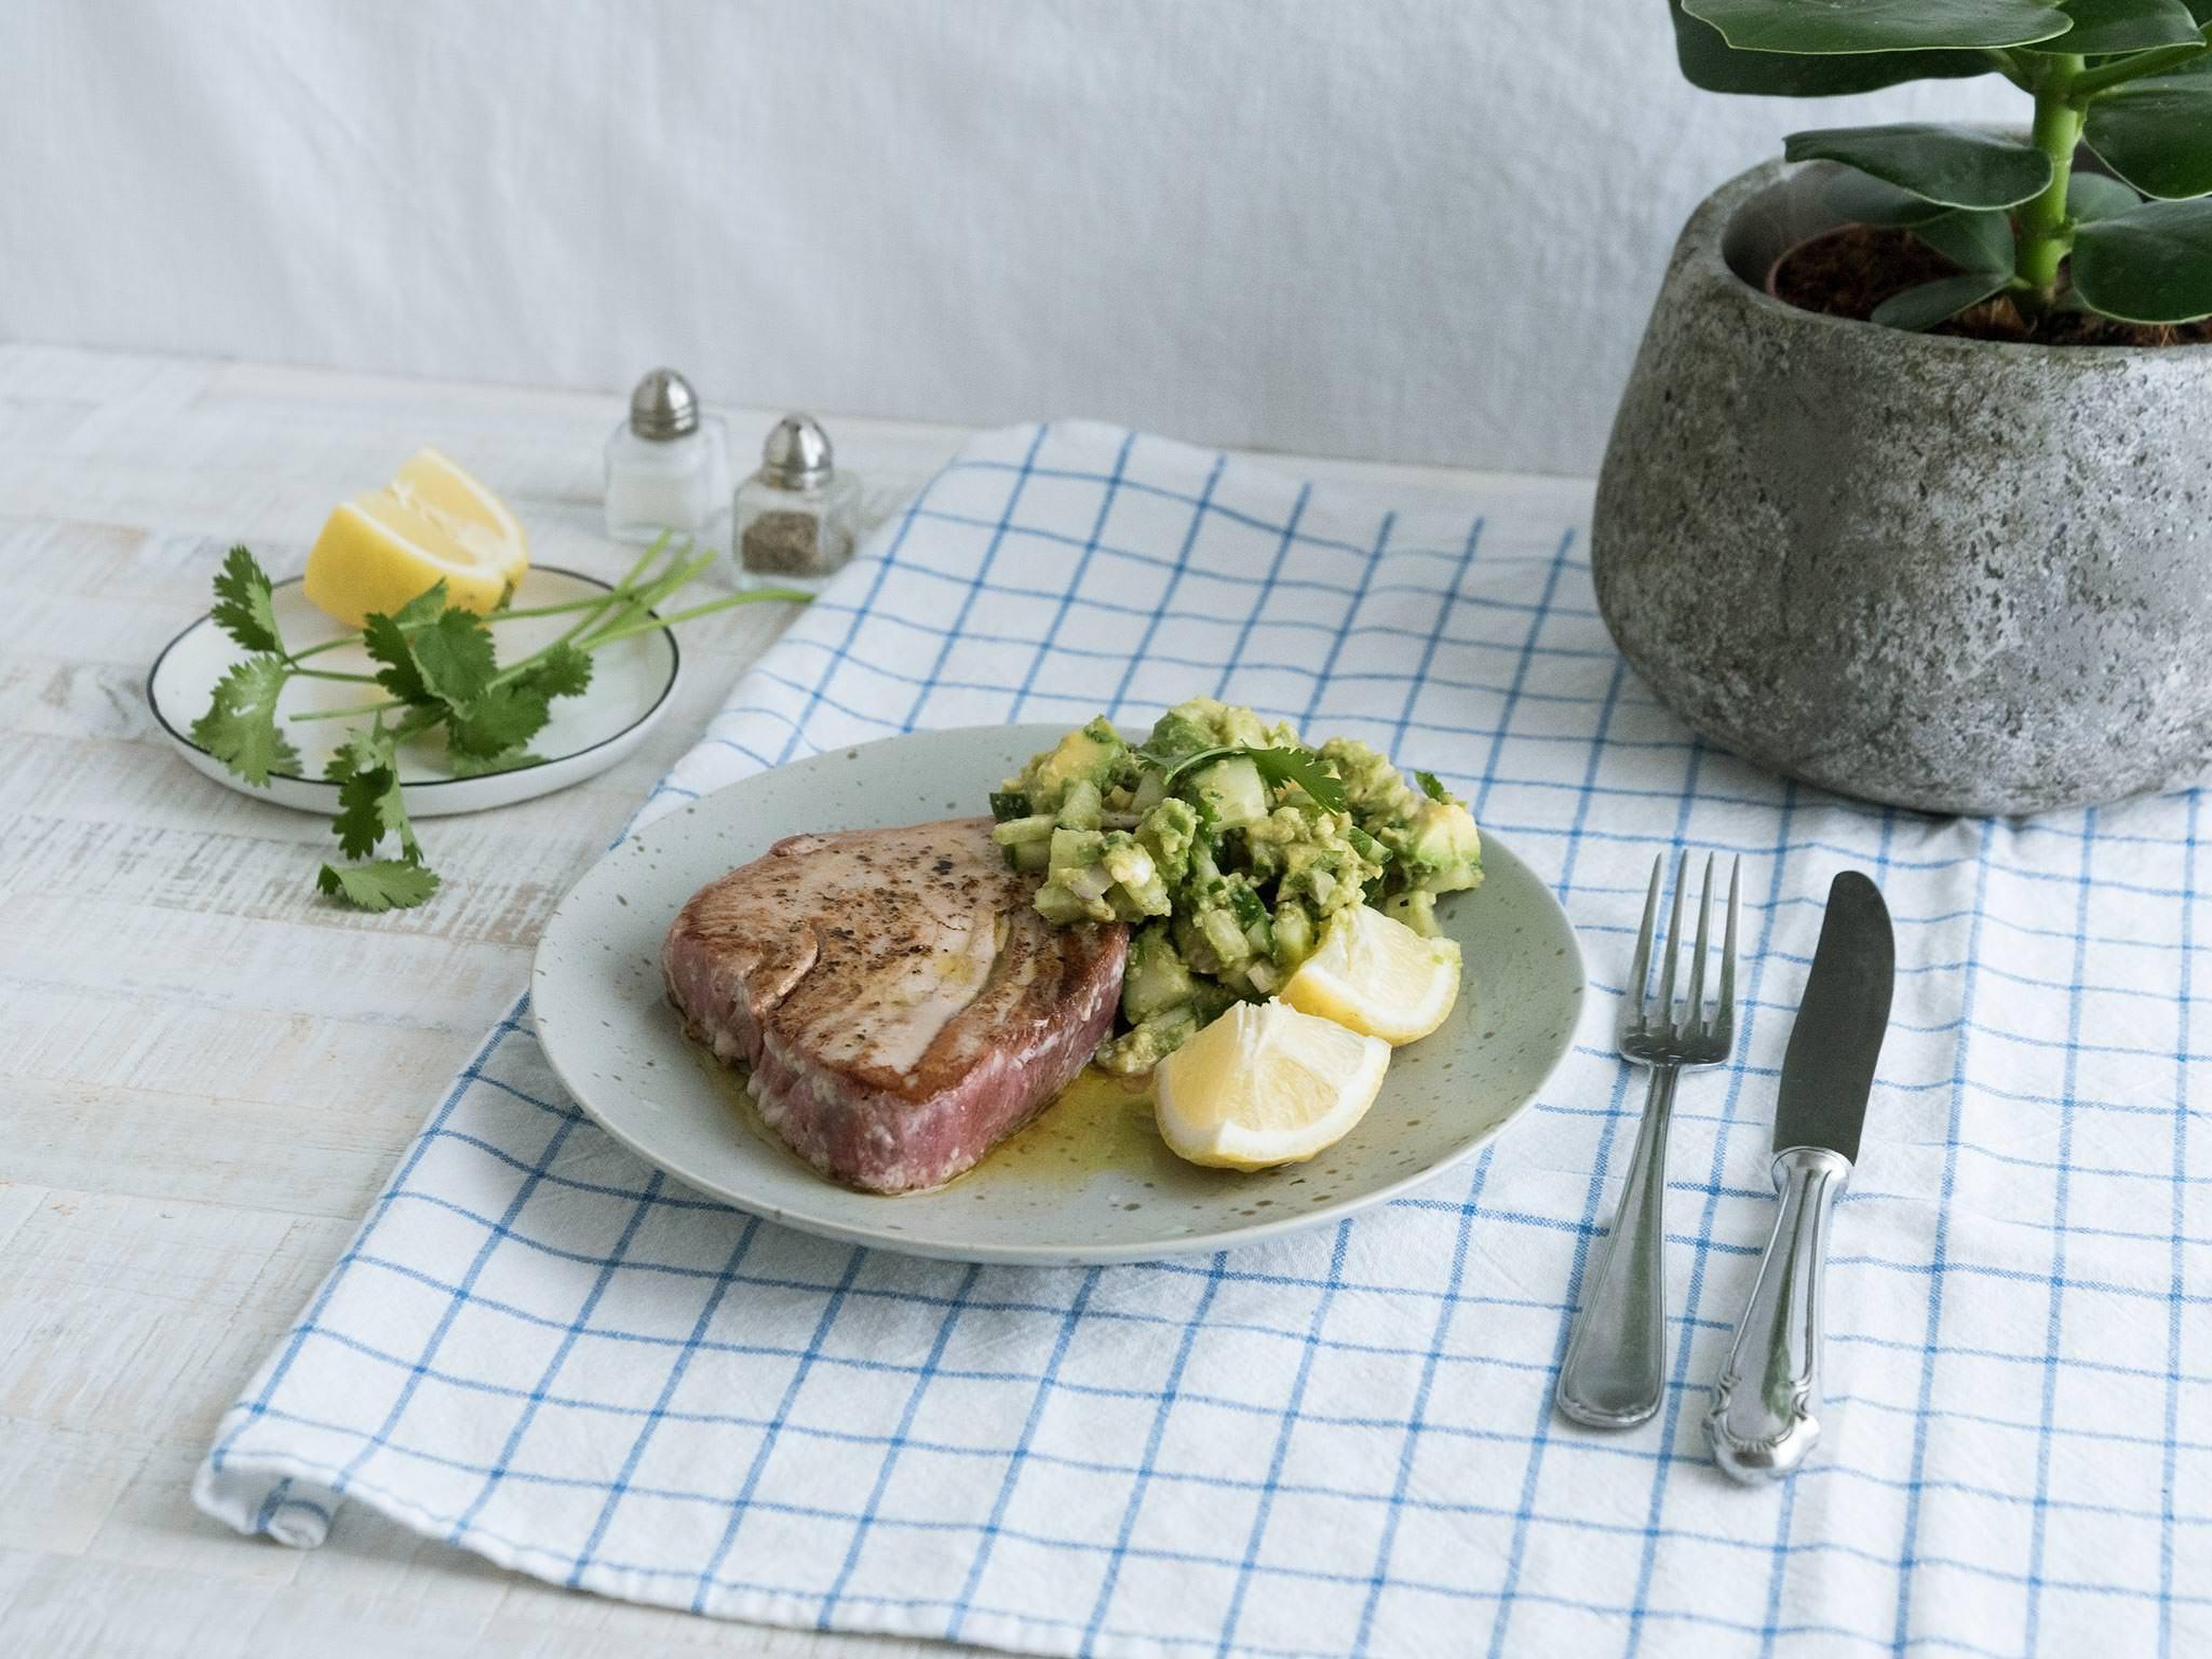
[(383, 489), (338, 502), (307, 553), (307, 602), (349, 628), (445, 582), (447, 602), (482, 615), (531, 566), (507, 502), (436, 449), (416, 451)]

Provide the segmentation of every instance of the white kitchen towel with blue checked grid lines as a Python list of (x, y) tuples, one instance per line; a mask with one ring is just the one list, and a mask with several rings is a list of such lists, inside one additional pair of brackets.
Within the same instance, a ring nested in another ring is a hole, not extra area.
[[(1391, 513), (1095, 425), (982, 438), (648, 805), (1190, 692), (1358, 734), (1557, 885), (1597, 980), (1478, 1161), (1214, 1259), (854, 1252), (637, 1164), (518, 1006), (223, 1418), (199, 1502), (292, 1544), (369, 1504), (604, 1595), (1031, 1652), (2212, 1650), (2199, 796), (1953, 823), (1714, 754), (1615, 657), (1557, 500)], [(1595, 1433), (1551, 1387), (1641, 1104), (1604, 1033), (1677, 845), (1745, 858), (1745, 1042), (1683, 1086), (1666, 1411)], [(1741, 1491), (1699, 1416), (1845, 865), (1896, 914), (1896, 1024), (1836, 1219), (1820, 1455)]]

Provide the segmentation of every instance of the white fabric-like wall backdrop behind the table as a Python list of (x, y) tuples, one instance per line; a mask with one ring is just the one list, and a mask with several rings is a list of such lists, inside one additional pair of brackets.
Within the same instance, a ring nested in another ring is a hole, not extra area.
[(2015, 104), (1663, 0), (7, 0), (0, 336), (1590, 471), (1699, 195)]

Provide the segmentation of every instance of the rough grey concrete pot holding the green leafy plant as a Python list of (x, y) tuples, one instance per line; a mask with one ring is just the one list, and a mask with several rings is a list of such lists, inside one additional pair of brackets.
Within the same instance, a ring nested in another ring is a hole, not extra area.
[(1801, 312), (1827, 164), (1752, 168), (1674, 248), (1597, 484), (1630, 666), (1697, 732), (1924, 812), (2212, 763), (2212, 345), (2044, 347)]

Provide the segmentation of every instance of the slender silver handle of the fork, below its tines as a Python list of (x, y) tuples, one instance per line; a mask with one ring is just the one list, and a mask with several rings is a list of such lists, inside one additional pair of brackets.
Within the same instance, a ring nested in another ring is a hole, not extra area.
[(1582, 1281), (1559, 1367), (1559, 1409), (1593, 1429), (1644, 1422), (1666, 1394), (1666, 1133), (1677, 1075), (1677, 1066), (1652, 1066), (1621, 1208), (1597, 1272)]

